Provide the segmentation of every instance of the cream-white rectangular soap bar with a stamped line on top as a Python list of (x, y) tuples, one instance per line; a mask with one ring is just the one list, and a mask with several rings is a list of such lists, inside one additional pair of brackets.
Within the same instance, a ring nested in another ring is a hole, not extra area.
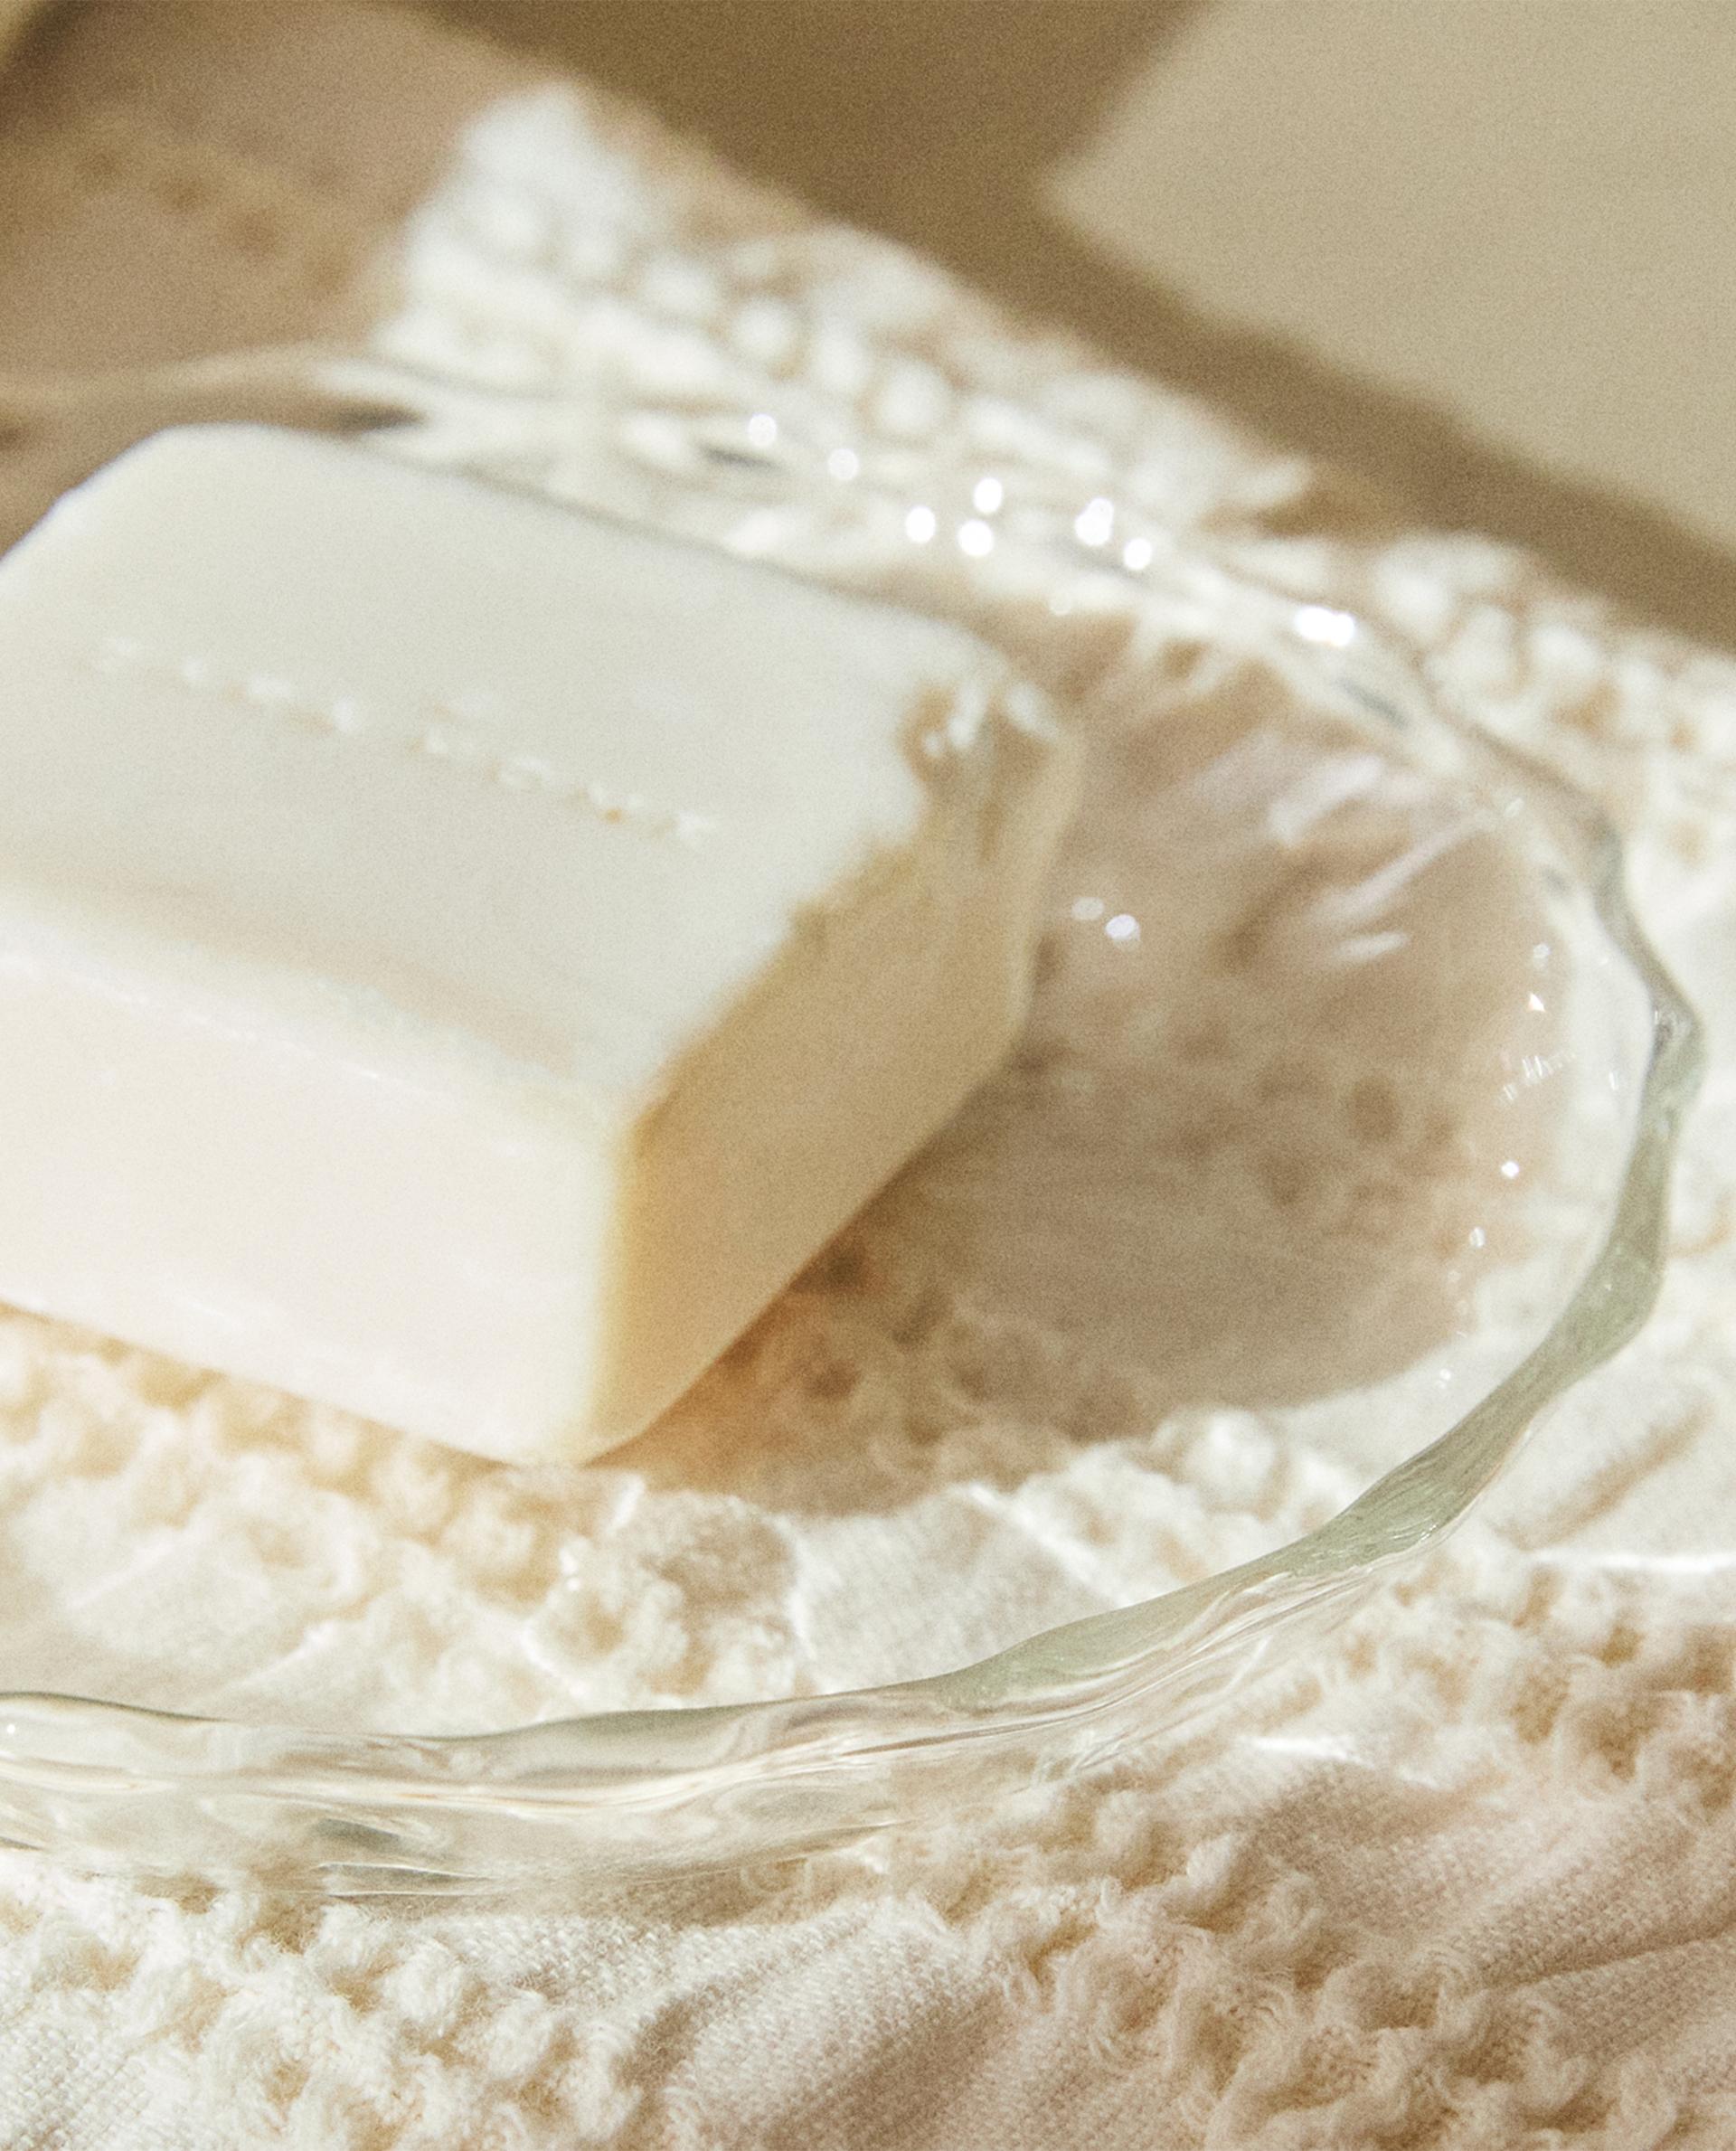
[(0, 559), (0, 1297), (604, 1450), (1002, 1058), (1071, 779), (951, 626), (157, 435)]

